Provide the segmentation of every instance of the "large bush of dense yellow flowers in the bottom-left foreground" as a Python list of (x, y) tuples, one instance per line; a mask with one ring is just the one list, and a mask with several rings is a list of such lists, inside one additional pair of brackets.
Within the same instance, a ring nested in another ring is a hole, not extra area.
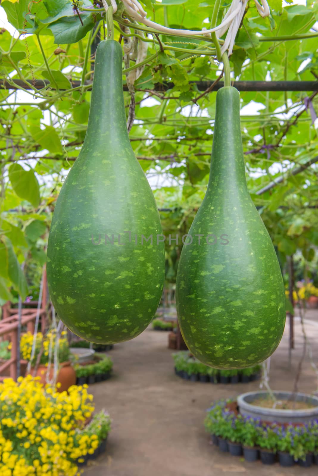
[(87, 386), (68, 393), (44, 388), (30, 375), (0, 383), (0, 475), (76, 476), (99, 435), (85, 426), (93, 411)]

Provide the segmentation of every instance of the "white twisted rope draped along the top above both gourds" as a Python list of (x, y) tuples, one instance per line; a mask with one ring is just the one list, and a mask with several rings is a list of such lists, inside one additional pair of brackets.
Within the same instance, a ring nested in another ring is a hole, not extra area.
[[(254, 0), (258, 13), (261, 17), (268, 17), (270, 11), (268, 7), (267, 0), (262, 0), (262, 5), (258, 2), (258, 0)], [(107, 11), (109, 6), (106, 0), (102, 0), (103, 6)], [(138, 0), (122, 0), (125, 9), (127, 10), (129, 16), (139, 23), (143, 23), (144, 25), (148, 26), (149, 28), (153, 28), (158, 30), (161, 33), (168, 33), (174, 36), (192, 36), (192, 35), (205, 35), (207, 36), (209, 33), (217, 32), (217, 37), (220, 38), (224, 35), (226, 31), (228, 34), (226, 36), (225, 42), (221, 47), (221, 52), (224, 53), (227, 49), (229, 49), (229, 55), (232, 53), (235, 37), (239, 30), (239, 25), (243, 18), (247, 0), (233, 0), (229, 10), (224, 15), (222, 22), (216, 26), (215, 28), (210, 28), (209, 30), (203, 29), (200, 31), (196, 30), (179, 30), (176, 28), (168, 28), (163, 25), (159, 25), (154, 21), (148, 20), (146, 18), (147, 13), (142, 8)], [(114, 13), (117, 10), (117, 5), (115, 0), (110, 0), (111, 5), (114, 8)], [(116, 5), (116, 9), (115, 9)]]

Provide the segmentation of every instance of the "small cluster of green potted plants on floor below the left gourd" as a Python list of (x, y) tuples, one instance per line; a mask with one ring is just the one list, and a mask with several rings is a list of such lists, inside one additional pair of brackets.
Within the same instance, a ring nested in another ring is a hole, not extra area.
[(110, 377), (113, 367), (111, 358), (105, 354), (95, 354), (94, 357), (98, 358), (96, 362), (75, 366), (77, 385), (102, 382)]

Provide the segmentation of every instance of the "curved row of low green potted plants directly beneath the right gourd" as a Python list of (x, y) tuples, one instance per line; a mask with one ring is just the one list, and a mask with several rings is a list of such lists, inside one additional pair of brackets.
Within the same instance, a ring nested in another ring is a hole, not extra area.
[(218, 370), (202, 364), (195, 357), (191, 357), (189, 351), (180, 351), (172, 354), (175, 373), (186, 380), (210, 382), (210, 383), (248, 383), (260, 376), (260, 365), (243, 368), (240, 370)]

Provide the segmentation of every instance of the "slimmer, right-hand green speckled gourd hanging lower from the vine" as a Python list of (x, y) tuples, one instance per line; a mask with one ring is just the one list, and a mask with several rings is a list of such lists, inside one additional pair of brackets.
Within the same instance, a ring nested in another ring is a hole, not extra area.
[(217, 93), (209, 185), (189, 235), (176, 285), (189, 350), (216, 368), (262, 362), (282, 337), (285, 293), (273, 244), (248, 193), (239, 92), (232, 87)]

